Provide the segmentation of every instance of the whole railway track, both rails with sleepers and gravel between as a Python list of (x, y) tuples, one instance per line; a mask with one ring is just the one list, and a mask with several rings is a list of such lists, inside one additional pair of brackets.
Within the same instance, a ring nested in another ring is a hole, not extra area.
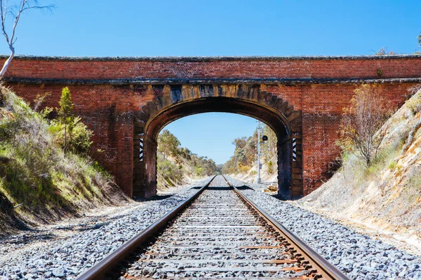
[(78, 279), (348, 279), (223, 176)]

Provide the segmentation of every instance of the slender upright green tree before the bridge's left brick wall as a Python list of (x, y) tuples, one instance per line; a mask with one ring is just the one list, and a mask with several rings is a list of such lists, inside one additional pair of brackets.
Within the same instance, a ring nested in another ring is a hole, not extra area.
[(69, 87), (62, 89), (62, 96), (58, 102), (60, 108), (57, 108), (58, 120), (65, 125), (65, 153), (67, 152), (68, 137), (72, 134), (74, 127), (73, 103)]

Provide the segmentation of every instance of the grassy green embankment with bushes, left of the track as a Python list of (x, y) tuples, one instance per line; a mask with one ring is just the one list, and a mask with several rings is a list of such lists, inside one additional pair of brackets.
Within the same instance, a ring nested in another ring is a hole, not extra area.
[[(67, 153), (52, 109), (36, 111), (0, 87), (0, 234), (46, 223), (126, 197), (112, 177), (86, 155), (92, 132), (79, 118), (67, 123)], [(77, 153), (81, 151), (81, 153)]]

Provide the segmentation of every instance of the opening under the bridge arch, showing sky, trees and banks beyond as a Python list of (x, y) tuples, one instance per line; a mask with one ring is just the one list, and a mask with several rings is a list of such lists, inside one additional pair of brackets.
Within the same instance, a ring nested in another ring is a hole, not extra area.
[(276, 143), (270, 127), (237, 113), (199, 113), (175, 120), (158, 136), (158, 195), (177, 183), (219, 172), (244, 182), (276, 184)]

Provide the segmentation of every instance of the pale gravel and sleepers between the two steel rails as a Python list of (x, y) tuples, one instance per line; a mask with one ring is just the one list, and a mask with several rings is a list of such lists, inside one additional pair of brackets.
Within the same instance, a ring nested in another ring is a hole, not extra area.
[(302, 279), (309, 270), (294, 270), (298, 262), (269, 229), (216, 176), (119, 279)]

